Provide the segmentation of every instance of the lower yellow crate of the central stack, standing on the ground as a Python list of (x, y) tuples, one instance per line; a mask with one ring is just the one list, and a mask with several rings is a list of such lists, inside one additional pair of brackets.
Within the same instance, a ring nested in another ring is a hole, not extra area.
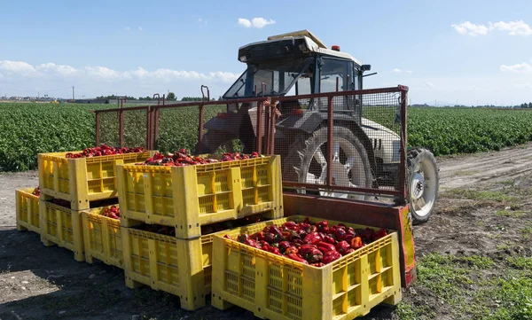
[(206, 305), (211, 286), (213, 235), (179, 239), (145, 230), (121, 228), (126, 285), (149, 285), (175, 294), (181, 308)]

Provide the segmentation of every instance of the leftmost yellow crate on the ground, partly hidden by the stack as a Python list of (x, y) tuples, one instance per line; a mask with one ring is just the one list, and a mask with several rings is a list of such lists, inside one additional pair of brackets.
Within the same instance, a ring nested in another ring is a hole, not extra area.
[(17, 230), (41, 233), (39, 224), (39, 197), (32, 194), (34, 188), (15, 191), (17, 205)]

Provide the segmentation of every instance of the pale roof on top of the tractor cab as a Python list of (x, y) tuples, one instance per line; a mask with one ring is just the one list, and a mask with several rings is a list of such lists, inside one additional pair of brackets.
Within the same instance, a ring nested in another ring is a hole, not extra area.
[(301, 30), (301, 31), (294, 31), (289, 32), (282, 35), (270, 35), (268, 37), (268, 40), (256, 42), (256, 43), (247, 43), (246, 45), (239, 48), (239, 50), (244, 49), (246, 47), (254, 46), (257, 44), (263, 44), (263, 43), (274, 43), (276, 41), (282, 40), (282, 39), (303, 39), (305, 43), (307, 44), (307, 48), (309, 51), (317, 52), (319, 54), (328, 55), (332, 57), (338, 57), (343, 59), (350, 59), (355, 61), (355, 63), (359, 66), (362, 66), (362, 61), (355, 59), (353, 56), (346, 52), (341, 51), (335, 51), (332, 49), (327, 48), (327, 46), (317, 38), (316, 35), (311, 33), (309, 30)]

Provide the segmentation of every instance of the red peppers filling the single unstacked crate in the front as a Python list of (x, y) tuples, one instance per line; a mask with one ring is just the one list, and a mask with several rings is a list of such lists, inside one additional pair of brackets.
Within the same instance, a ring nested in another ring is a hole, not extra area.
[(309, 218), (305, 218), (299, 223), (270, 225), (252, 235), (241, 233), (237, 238), (231, 238), (229, 235), (223, 238), (314, 267), (323, 267), (386, 236), (386, 229), (353, 229), (343, 223), (329, 226), (327, 221), (311, 223)]

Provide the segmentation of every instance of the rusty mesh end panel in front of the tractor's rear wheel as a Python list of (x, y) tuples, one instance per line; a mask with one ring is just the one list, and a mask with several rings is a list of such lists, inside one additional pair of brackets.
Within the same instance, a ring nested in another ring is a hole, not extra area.
[(312, 184), (300, 192), (316, 193), (330, 184), (334, 192), (322, 195), (352, 199), (364, 199), (354, 188), (400, 191), (401, 93), (360, 92), (279, 99), (275, 153), (286, 185)]

